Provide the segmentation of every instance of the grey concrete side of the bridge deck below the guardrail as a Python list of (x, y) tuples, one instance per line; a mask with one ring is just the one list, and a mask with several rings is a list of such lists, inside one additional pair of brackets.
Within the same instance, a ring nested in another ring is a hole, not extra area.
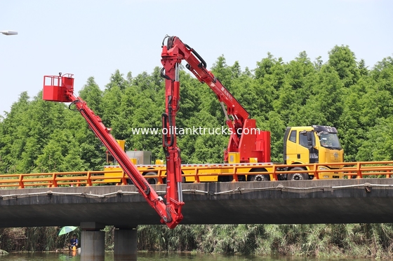
[[(162, 195), (166, 185), (153, 185)], [(393, 178), (183, 184), (181, 224), (392, 223)], [(133, 185), (0, 190), (0, 227), (160, 224)]]

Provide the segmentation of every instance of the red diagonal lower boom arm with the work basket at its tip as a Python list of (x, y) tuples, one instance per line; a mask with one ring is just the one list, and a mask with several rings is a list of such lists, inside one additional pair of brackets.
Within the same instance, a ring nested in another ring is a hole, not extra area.
[[(46, 101), (71, 102), (69, 106), (74, 104), (85, 118), (88, 126), (93, 130), (95, 136), (102, 141), (109, 153), (119, 162), (121, 168), (133, 181), (133, 185), (145, 197), (147, 203), (159, 214), (161, 223), (166, 223), (169, 228), (176, 227), (182, 220), (181, 208), (184, 204), (182, 202), (182, 191), (175, 190), (174, 193), (170, 184), (167, 184), (166, 203), (164, 203), (164, 200), (156, 194), (145, 177), (140, 174), (127, 154), (116, 142), (116, 139), (110, 134), (111, 129), (105, 127), (100, 117), (88, 108), (83, 99), (75, 97), (73, 92), (74, 78), (72, 78), (72, 74), (67, 73), (62, 76), (60, 73), (59, 76), (44, 76), (43, 99)], [(167, 176), (167, 180), (174, 180), (174, 178)]]

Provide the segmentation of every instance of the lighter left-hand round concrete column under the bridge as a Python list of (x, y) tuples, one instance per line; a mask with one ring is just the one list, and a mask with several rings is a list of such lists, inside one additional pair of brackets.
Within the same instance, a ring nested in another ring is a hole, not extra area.
[(95, 222), (81, 223), (81, 261), (105, 260), (105, 225)]

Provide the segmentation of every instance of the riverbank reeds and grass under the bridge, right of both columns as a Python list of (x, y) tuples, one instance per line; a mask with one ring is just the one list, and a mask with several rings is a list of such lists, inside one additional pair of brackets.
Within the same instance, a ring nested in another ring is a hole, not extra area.
[(392, 224), (138, 227), (138, 249), (243, 255), (392, 258)]

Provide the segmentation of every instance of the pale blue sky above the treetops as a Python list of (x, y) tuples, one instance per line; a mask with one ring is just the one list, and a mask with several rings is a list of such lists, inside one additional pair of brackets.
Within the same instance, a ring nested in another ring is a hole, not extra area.
[(348, 45), (371, 69), (393, 56), (389, 0), (0, 0), (0, 115), (20, 93), (35, 97), (44, 75), (74, 73), (76, 94), (93, 76), (102, 90), (161, 66), (161, 42), (178, 36), (210, 69), (220, 55), (255, 69), (267, 57), (290, 62), (302, 51), (326, 62)]

